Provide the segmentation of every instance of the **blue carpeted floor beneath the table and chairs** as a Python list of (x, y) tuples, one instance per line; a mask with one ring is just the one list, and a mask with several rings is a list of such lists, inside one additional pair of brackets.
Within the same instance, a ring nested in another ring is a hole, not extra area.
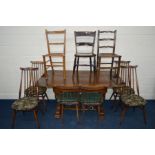
[[(0, 100), (0, 129), (11, 128), (11, 104), (13, 100)], [(48, 102), (48, 110), (43, 115), (39, 112), (41, 129), (154, 129), (155, 128), (155, 101), (149, 100), (146, 105), (147, 125), (144, 124), (143, 113), (140, 109), (130, 109), (124, 122), (119, 126), (120, 108), (114, 111), (110, 101), (105, 101), (105, 118), (98, 121), (96, 111), (80, 113), (77, 122), (76, 112), (64, 111), (63, 122), (54, 118), (56, 104), (54, 100)], [(42, 107), (42, 105), (40, 105)], [(17, 113), (16, 129), (36, 129), (33, 113)]]

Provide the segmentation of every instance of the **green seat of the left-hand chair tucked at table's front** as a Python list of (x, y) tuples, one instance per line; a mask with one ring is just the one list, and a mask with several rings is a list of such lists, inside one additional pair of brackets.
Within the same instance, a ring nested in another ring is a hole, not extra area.
[(77, 104), (80, 102), (80, 93), (65, 92), (56, 96), (57, 102), (61, 104)]

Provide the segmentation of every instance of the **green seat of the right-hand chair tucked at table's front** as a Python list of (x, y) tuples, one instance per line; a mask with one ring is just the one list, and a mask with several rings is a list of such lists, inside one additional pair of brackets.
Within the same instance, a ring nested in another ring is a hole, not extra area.
[(103, 102), (103, 96), (96, 92), (83, 92), (81, 94), (80, 102), (85, 105), (99, 105)]

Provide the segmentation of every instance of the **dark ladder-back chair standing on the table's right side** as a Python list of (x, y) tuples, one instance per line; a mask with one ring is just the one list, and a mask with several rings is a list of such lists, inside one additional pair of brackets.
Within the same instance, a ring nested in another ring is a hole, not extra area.
[[(98, 30), (97, 40), (97, 71), (110, 71), (110, 78), (113, 78), (113, 71), (117, 74), (115, 78), (119, 77), (121, 56), (115, 53), (116, 48), (116, 30), (115, 31), (100, 31)], [(114, 66), (114, 61), (117, 60), (118, 66)]]

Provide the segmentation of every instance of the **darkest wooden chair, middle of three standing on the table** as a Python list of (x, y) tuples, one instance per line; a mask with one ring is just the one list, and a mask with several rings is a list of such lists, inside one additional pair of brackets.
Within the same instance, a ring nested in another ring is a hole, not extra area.
[[(78, 31), (74, 32), (76, 53), (74, 58), (73, 74), (75, 70), (78, 71), (79, 66), (90, 66), (90, 71), (94, 68), (96, 70), (96, 54), (94, 54), (94, 45), (96, 31)], [(89, 64), (79, 63), (80, 58), (88, 58)], [(93, 61), (92, 61), (93, 58)]]

